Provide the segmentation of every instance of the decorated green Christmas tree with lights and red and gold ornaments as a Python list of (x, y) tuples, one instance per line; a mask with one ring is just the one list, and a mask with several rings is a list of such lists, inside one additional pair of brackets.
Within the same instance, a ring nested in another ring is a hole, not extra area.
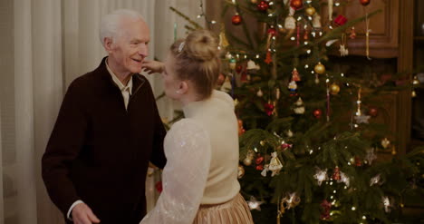
[(255, 223), (390, 223), (406, 196), (422, 198), (424, 148), (375, 161), (376, 151), (395, 154), (390, 133), (372, 122), (379, 93), (395, 87), (370, 88), (375, 80), (334, 71), (328, 57), (348, 55), (353, 25), (379, 11), (348, 20), (332, 14), (341, 5), (332, 0), (224, 4), (242, 32), (207, 24), (220, 25), (220, 88), (235, 99), (239, 180)]

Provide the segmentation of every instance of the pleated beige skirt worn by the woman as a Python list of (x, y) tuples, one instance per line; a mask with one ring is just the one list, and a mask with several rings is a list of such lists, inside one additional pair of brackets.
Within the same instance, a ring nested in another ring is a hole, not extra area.
[(200, 205), (193, 224), (251, 224), (252, 214), (243, 196), (217, 205)]

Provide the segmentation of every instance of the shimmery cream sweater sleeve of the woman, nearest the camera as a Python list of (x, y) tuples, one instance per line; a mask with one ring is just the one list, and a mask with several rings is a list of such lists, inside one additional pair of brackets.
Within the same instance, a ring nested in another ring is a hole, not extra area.
[(191, 224), (198, 212), (210, 166), (207, 132), (188, 119), (173, 125), (165, 140), (167, 165), (156, 207), (140, 224)]

